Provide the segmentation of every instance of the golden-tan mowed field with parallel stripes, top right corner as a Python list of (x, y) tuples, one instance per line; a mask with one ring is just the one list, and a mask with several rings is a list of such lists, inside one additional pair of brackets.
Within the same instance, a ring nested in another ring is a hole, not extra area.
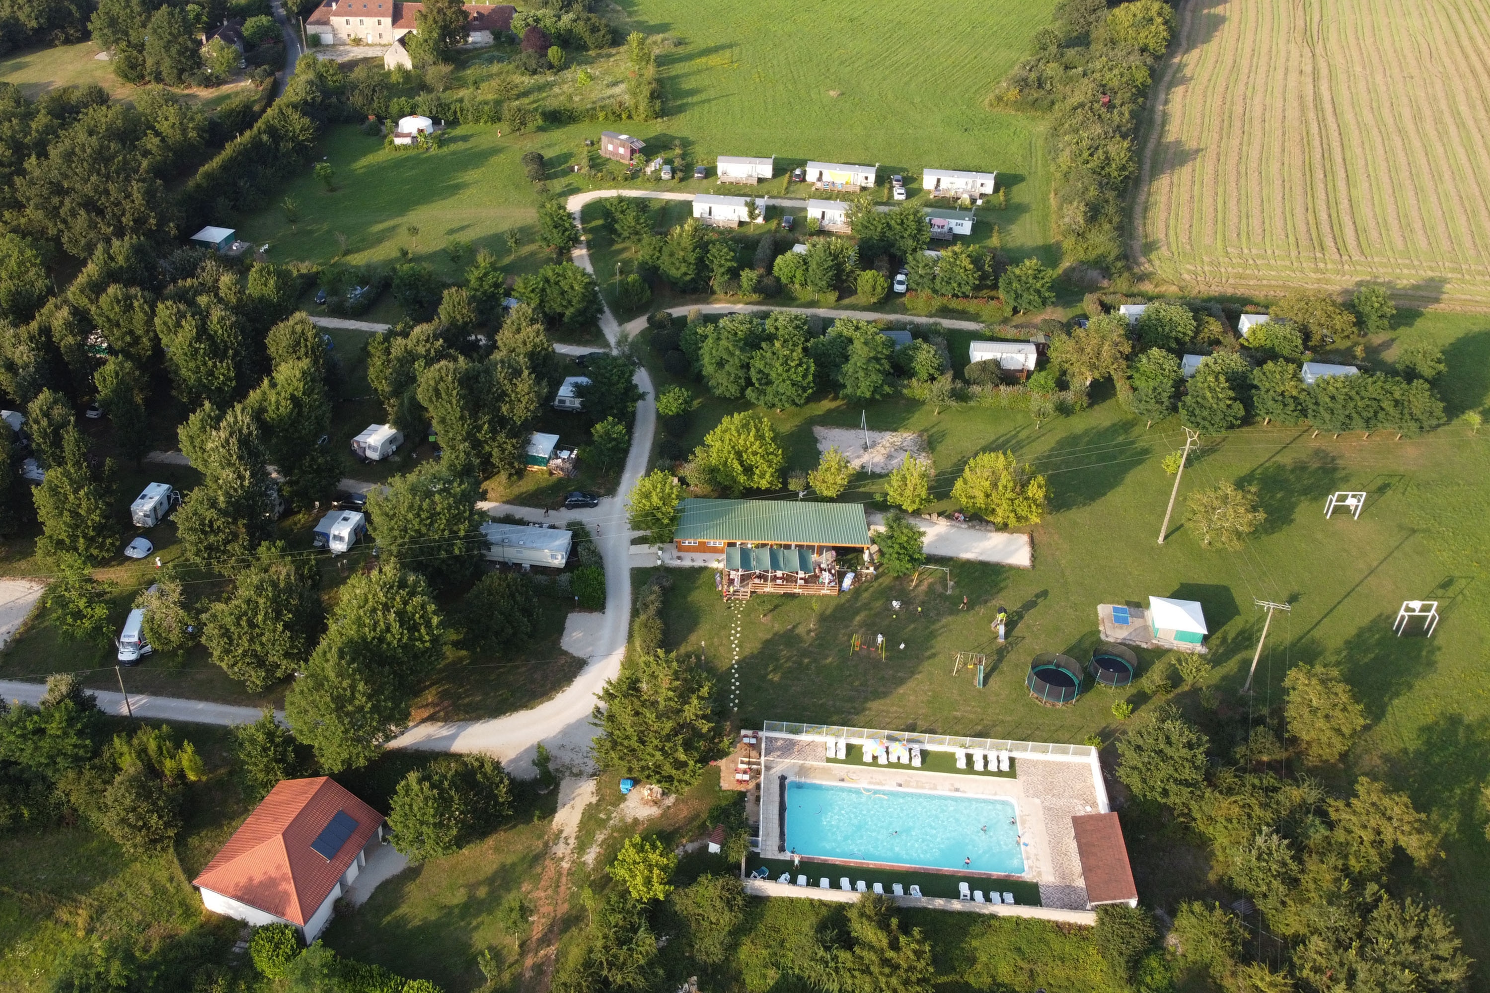
[(1490, 307), (1490, 4), (1186, 0), (1135, 256), (1188, 292)]

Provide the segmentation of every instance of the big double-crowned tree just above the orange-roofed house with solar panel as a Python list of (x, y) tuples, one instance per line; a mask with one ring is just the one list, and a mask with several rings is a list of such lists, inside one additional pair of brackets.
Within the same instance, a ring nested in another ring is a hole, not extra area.
[(328, 773), (365, 765), (408, 724), (443, 657), (428, 585), (384, 563), (341, 588), (326, 636), (285, 697), (285, 716)]

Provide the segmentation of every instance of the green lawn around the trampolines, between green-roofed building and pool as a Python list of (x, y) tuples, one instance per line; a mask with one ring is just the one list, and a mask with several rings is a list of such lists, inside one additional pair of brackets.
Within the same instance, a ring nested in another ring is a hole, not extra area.
[[(1450, 372), (1439, 384), (1450, 415), (1490, 399), (1490, 322), (1453, 314), (1408, 314), (1413, 331), (1436, 339)], [(1377, 351), (1387, 342), (1377, 342)], [(665, 380), (657, 380), (662, 389)], [(729, 631), (739, 625), (738, 719), (766, 719), (904, 728), (1046, 741), (1112, 740), (1120, 729), (1112, 704), (1152, 706), (1150, 691), (1089, 689), (1062, 709), (1039, 706), (1025, 691), (1037, 652), (1061, 651), (1079, 661), (1097, 643), (1098, 603), (1144, 601), (1149, 596), (1199, 600), (1210, 625), (1201, 685), (1216, 695), (1201, 701), (1196, 686), (1179, 686), (1176, 700), (1229, 749), (1250, 719), (1281, 704), (1280, 682), (1305, 661), (1338, 665), (1366, 706), (1371, 727), (1347, 764), (1311, 770), (1337, 788), (1357, 774), (1405, 789), (1435, 823), (1444, 825), (1447, 861), (1411, 877), (1420, 890), (1457, 917), (1466, 951), (1490, 954), (1490, 919), (1481, 899), (1490, 878), (1483, 838), (1480, 783), (1490, 762), (1490, 433), (1451, 424), (1421, 438), (1392, 433), (1311, 438), (1310, 430), (1253, 427), (1210, 441), (1186, 470), (1183, 491), (1223, 479), (1258, 485), (1268, 520), (1241, 552), (1210, 551), (1183, 527), (1183, 493), (1171, 534), (1158, 545), (1159, 521), (1173, 476), (1159, 459), (1179, 441), (1173, 421), (1144, 432), (1125, 415), (1110, 390), (1094, 406), (1036, 430), (1028, 415), (960, 408), (933, 417), (900, 400), (875, 405), (870, 429), (922, 430), (931, 444), (942, 497), (974, 451), (1012, 448), (1044, 472), (1050, 514), (1034, 534), (1034, 569), (949, 563), (954, 588), (939, 575), (912, 584), (882, 578), (845, 597), (757, 597), (726, 604), (706, 570), (672, 570), (666, 624), (673, 643), (703, 654), (721, 679), (736, 657)], [(696, 444), (723, 412), (739, 409), (705, 399), (687, 444)], [(831, 400), (767, 414), (784, 433), (788, 464), (815, 459), (814, 423), (852, 424), (858, 406)], [(884, 479), (860, 476), (843, 499), (872, 500)], [(1365, 490), (1359, 521), (1326, 521), (1325, 497)], [(644, 582), (639, 576), (636, 582)], [(968, 612), (960, 610), (967, 596)], [(1262, 627), (1253, 598), (1290, 601), (1280, 615), (1258, 670), (1259, 694), (1237, 697)], [(1392, 621), (1410, 598), (1436, 598), (1444, 621), (1430, 640), (1398, 639)], [(901, 600), (903, 609), (891, 609)], [(915, 607), (922, 607), (918, 616)], [(1009, 640), (1000, 646), (991, 621), (1010, 612)], [(854, 634), (890, 643), (881, 661), (849, 652)], [(904, 645), (901, 649), (900, 645)], [(986, 686), (973, 688), (967, 670), (952, 677), (958, 651), (985, 652)], [(1143, 671), (1177, 657), (1140, 652)], [(1141, 853), (1143, 846), (1138, 846)], [(1144, 856), (1137, 856), (1141, 862)], [(1153, 869), (1161, 866), (1155, 862)], [(1204, 869), (1198, 872), (1204, 878)]]

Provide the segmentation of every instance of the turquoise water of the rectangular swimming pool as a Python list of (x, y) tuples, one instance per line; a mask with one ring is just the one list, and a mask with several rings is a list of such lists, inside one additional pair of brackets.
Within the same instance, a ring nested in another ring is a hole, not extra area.
[(824, 859), (1019, 875), (1013, 817), (1013, 801), (991, 796), (787, 783), (787, 849)]

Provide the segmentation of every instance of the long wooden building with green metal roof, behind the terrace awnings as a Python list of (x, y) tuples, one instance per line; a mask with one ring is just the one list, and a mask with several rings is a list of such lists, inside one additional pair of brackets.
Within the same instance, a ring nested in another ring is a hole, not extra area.
[(694, 554), (723, 552), (729, 545), (869, 548), (869, 520), (858, 503), (688, 499), (673, 545)]

